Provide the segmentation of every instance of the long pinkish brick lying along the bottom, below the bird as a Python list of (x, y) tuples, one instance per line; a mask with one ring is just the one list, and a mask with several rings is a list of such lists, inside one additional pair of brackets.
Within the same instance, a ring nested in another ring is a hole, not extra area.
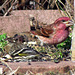
[[(7, 62), (7, 64), (12, 68), (12, 70), (16, 70), (18, 67), (19, 70), (17, 73), (25, 73), (26, 71), (31, 71), (34, 73), (44, 73), (48, 71), (65, 73), (69, 70), (75, 68), (75, 62), (71, 61), (62, 61), (60, 63), (54, 62), (30, 62), (31, 65), (28, 65), (28, 62)], [(2, 67), (5, 68), (4, 66)], [(5, 70), (7, 71), (7, 69)]]

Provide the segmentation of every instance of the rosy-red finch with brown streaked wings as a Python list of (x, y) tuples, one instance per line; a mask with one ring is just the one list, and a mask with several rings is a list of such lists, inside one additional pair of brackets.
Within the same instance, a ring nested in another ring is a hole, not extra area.
[(38, 39), (46, 44), (59, 44), (66, 40), (69, 35), (69, 27), (73, 25), (68, 17), (60, 17), (53, 24), (39, 26), (36, 31), (31, 31)]

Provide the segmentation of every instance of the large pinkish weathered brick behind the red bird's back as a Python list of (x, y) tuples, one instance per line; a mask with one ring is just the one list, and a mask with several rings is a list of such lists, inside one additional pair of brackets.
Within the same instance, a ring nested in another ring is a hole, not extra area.
[(13, 36), (16, 33), (29, 32), (30, 15), (33, 15), (35, 18), (37, 16), (39, 22), (47, 24), (51, 24), (61, 17), (58, 10), (17, 10), (12, 11), (11, 14), (10, 16), (0, 17), (0, 34), (4, 32), (9, 36)]

